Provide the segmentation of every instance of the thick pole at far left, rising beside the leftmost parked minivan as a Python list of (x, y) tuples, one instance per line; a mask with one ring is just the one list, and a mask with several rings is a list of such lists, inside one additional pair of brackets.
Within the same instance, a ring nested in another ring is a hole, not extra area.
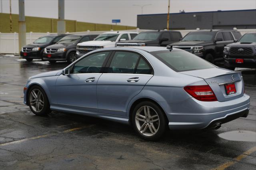
[(19, 49), (26, 45), (26, 22), (24, 0), (19, 0)]

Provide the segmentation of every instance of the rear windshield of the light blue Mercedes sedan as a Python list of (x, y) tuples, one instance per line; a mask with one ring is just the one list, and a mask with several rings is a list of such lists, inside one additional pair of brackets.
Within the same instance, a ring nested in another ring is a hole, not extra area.
[(177, 72), (215, 67), (204, 59), (183, 50), (164, 50), (150, 53)]

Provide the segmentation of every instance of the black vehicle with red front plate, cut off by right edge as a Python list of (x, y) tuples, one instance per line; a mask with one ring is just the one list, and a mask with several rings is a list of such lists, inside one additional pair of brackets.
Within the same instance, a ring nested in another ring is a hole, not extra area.
[(256, 33), (244, 34), (238, 42), (224, 47), (223, 53), (228, 69), (256, 68)]

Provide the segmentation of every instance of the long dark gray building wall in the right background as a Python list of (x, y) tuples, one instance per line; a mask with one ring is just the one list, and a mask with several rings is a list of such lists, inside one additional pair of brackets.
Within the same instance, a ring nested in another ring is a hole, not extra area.
[[(148, 30), (166, 29), (167, 14), (137, 16), (137, 27)], [(252, 29), (256, 28), (256, 10), (187, 12), (170, 14), (170, 29)]]

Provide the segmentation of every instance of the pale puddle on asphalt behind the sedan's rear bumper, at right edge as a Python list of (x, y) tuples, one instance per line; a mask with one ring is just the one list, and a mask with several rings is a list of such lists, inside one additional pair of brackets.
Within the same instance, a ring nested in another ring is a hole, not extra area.
[(226, 140), (256, 142), (256, 132), (247, 130), (224, 132), (218, 134), (218, 136)]

